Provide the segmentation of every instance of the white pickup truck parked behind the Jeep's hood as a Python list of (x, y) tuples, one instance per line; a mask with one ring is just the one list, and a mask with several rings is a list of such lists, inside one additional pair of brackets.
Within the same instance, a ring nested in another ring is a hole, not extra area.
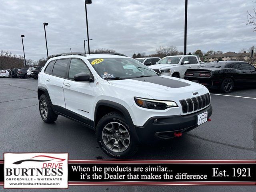
[(166, 76), (184, 78), (187, 69), (197, 69), (200, 66), (196, 55), (177, 55), (164, 57), (155, 65), (148, 67)]

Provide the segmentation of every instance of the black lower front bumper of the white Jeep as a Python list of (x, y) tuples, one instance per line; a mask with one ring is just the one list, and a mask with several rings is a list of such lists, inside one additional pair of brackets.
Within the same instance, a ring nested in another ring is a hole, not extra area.
[[(173, 138), (174, 132), (185, 133), (197, 126), (197, 115), (208, 112), (208, 118), (212, 115), (212, 106), (189, 115), (161, 116), (150, 118), (143, 126), (135, 126), (136, 134), (140, 143), (150, 142), (152, 139)], [(154, 122), (154, 120), (158, 122)]]

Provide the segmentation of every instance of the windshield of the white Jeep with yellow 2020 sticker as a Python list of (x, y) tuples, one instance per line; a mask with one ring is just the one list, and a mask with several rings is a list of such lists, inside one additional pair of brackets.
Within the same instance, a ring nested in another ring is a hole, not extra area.
[(101, 78), (128, 79), (140, 76), (157, 76), (156, 72), (132, 58), (88, 59)]

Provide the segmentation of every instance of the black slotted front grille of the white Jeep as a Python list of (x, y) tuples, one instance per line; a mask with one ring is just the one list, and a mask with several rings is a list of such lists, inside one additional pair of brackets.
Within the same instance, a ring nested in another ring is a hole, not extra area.
[(205, 106), (208, 106), (211, 101), (211, 96), (209, 93), (193, 97), (193, 98), (188, 98), (186, 100), (180, 100), (180, 104), (182, 106), (182, 112), (187, 113), (187, 112), (192, 112), (199, 110), (201, 108), (204, 108)]

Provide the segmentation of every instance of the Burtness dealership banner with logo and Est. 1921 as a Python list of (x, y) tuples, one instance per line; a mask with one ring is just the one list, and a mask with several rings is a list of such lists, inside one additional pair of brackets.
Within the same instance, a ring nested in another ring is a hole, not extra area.
[(4, 188), (71, 185), (255, 185), (256, 160), (68, 160), (67, 153), (5, 153)]

